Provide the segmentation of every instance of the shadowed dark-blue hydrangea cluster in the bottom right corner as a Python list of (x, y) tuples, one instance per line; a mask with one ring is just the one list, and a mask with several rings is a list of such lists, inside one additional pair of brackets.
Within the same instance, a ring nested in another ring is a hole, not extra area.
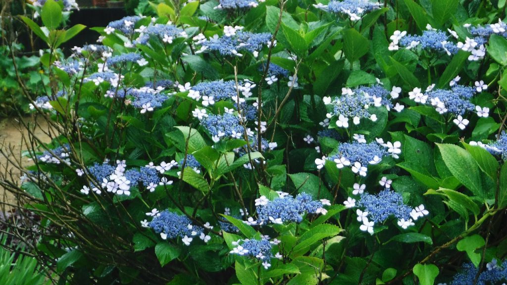
[[(498, 265), (496, 259), (493, 259), (486, 265), (486, 268), (487, 270), (479, 273), (481, 269), (477, 268), (473, 263), (464, 263), (462, 271), (454, 275), (451, 285), (502, 285), (507, 282), (507, 260), (504, 260), (501, 265)], [(477, 282), (475, 282), (478, 274), (479, 278)]]

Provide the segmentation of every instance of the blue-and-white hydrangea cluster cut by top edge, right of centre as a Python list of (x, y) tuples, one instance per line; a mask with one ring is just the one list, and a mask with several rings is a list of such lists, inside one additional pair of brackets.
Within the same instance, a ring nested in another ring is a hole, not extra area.
[(366, 13), (380, 9), (379, 3), (372, 3), (368, 0), (333, 0), (328, 5), (317, 4), (314, 6), (329, 12), (347, 15), (352, 21), (358, 21)]

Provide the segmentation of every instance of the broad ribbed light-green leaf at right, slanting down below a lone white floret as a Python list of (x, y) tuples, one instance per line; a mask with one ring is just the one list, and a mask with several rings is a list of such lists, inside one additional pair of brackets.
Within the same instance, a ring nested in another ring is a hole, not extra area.
[(474, 195), (485, 199), (482, 189), (479, 166), (472, 155), (464, 149), (448, 144), (437, 144), (447, 168), (451, 171), (461, 184), (468, 188)]

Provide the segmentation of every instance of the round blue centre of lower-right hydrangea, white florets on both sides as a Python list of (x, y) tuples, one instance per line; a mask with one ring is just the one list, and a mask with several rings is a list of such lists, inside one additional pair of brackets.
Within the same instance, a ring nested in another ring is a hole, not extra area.
[(408, 221), (412, 211), (411, 207), (403, 203), (400, 194), (388, 189), (380, 191), (377, 195), (364, 193), (357, 205), (368, 211), (368, 220), (374, 221), (375, 224), (383, 223), (390, 216)]

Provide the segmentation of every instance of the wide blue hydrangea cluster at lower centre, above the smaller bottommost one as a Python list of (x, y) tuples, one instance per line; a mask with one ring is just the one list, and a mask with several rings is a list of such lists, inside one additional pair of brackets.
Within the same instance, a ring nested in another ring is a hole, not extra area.
[(295, 198), (287, 193), (280, 192), (279, 197), (270, 201), (265, 196), (256, 200), (258, 221), (248, 221), (250, 225), (263, 225), (264, 223), (283, 224), (303, 221), (305, 213), (322, 213), (327, 200), (316, 201), (307, 193), (300, 193)]

